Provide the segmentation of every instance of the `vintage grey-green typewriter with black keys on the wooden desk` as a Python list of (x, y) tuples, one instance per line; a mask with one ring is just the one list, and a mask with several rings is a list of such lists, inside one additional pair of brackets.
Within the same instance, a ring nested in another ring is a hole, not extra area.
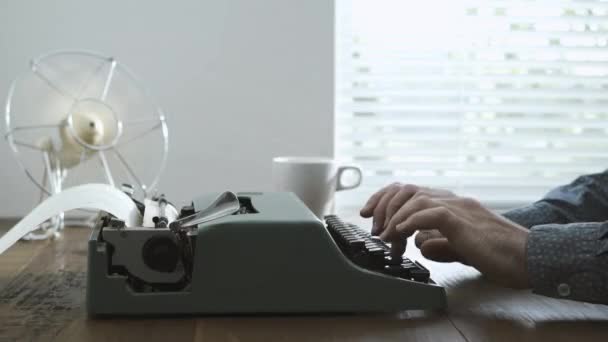
[[(291, 193), (233, 194), (237, 208), (126, 227), (100, 213), (89, 240), (91, 315), (359, 313), (438, 309), (445, 291), (418, 262), (336, 216), (322, 222)], [(220, 196), (221, 197), (221, 196)], [(165, 202), (160, 200), (160, 206)], [(140, 204), (141, 211), (146, 210)], [(215, 217), (214, 217), (215, 215)], [(187, 221), (195, 224), (185, 224)]]

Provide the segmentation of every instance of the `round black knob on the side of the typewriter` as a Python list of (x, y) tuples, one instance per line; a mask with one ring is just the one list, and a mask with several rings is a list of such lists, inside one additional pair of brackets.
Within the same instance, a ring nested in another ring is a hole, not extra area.
[(179, 262), (179, 247), (166, 236), (150, 238), (144, 244), (142, 254), (146, 266), (158, 272), (173, 272)]

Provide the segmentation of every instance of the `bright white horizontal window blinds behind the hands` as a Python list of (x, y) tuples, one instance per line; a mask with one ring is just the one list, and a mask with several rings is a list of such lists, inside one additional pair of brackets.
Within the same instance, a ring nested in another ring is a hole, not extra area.
[(358, 208), (414, 183), (523, 205), (608, 168), (608, 2), (341, 1), (336, 156)]

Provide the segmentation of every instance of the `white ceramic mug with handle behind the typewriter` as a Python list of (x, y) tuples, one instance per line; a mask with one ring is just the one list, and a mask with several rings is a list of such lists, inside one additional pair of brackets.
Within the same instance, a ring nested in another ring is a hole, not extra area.
[[(347, 170), (357, 175), (351, 185), (342, 183), (342, 175)], [(272, 160), (274, 190), (295, 193), (321, 219), (333, 211), (336, 191), (354, 189), (362, 179), (359, 167), (339, 165), (331, 158), (276, 157)]]

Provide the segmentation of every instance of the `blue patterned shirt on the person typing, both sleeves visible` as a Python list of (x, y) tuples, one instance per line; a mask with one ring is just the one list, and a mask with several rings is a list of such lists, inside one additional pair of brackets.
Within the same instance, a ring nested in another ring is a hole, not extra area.
[(504, 215), (530, 229), (526, 260), (535, 293), (608, 304), (608, 170)]

